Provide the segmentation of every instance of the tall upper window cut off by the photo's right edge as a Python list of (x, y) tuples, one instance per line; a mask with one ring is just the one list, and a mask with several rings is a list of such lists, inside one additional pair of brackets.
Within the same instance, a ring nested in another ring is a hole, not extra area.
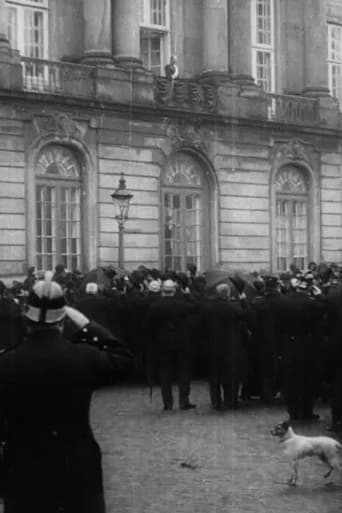
[(342, 26), (328, 25), (329, 87), (342, 104)]

